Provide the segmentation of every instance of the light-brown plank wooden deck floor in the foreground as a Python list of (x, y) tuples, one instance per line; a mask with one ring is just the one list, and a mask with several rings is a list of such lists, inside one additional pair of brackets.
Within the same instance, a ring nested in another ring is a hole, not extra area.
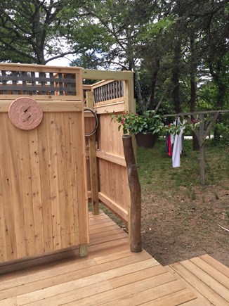
[(0, 305), (229, 305), (229, 269), (208, 255), (162, 267), (105, 214), (90, 215), (79, 250), (0, 267)]

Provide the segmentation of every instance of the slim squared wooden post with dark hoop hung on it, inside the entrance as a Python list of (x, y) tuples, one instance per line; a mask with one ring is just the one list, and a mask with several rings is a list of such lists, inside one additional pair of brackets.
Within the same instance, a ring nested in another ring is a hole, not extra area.
[[(89, 108), (93, 108), (93, 92), (86, 92), (86, 103)], [(96, 160), (96, 134), (89, 136), (89, 162), (91, 181), (91, 203), (93, 205), (93, 215), (99, 215), (98, 206), (98, 171)]]

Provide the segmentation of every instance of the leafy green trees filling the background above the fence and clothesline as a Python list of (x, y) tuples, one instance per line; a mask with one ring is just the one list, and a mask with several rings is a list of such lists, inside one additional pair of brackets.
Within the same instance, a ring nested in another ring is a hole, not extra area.
[(229, 108), (226, 0), (1, 0), (0, 25), (2, 61), (72, 54), (72, 65), (136, 72), (141, 110)]

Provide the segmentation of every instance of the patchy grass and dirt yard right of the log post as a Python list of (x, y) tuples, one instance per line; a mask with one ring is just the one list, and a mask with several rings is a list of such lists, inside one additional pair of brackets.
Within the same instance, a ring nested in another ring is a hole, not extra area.
[(204, 189), (191, 140), (176, 168), (164, 140), (138, 148), (143, 247), (162, 264), (209, 253), (229, 267), (229, 151), (210, 140), (205, 148)]

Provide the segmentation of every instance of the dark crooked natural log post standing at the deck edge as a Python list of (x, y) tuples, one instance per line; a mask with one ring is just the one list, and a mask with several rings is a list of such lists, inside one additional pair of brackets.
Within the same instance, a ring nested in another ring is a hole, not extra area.
[(141, 193), (140, 182), (136, 160), (133, 153), (132, 137), (130, 135), (122, 136), (124, 146), (124, 155), (128, 173), (129, 188), (131, 193), (130, 224), (129, 235), (131, 252), (138, 253), (142, 251), (140, 236), (140, 217), (141, 217)]

